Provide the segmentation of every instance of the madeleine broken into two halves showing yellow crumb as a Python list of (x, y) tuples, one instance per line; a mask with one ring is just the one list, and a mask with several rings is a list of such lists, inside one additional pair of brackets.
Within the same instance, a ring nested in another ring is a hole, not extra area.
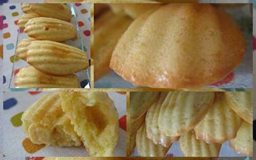
[(118, 140), (118, 113), (104, 92), (59, 92), (44, 95), (22, 115), (23, 129), (34, 144), (78, 147), (91, 156), (113, 156)]

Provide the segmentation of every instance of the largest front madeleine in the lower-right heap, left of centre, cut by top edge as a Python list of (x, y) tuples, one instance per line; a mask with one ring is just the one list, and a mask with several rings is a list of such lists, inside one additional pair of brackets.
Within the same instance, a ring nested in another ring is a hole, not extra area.
[(214, 102), (214, 92), (169, 92), (159, 112), (159, 129), (180, 136), (193, 129)]

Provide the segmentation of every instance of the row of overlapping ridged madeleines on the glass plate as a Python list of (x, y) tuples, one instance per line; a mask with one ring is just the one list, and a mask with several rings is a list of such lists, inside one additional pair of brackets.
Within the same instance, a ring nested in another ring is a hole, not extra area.
[(77, 37), (65, 4), (22, 4), (18, 20), (27, 33), (16, 48), (17, 56), (31, 66), (20, 68), (14, 84), (19, 88), (79, 88), (74, 73), (89, 66), (86, 52), (64, 41)]

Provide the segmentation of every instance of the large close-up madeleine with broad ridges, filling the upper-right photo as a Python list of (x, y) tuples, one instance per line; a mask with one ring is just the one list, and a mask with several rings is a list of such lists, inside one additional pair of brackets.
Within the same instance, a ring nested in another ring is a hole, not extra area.
[(133, 21), (110, 67), (136, 86), (200, 87), (225, 78), (245, 52), (241, 30), (223, 10), (211, 4), (168, 4)]

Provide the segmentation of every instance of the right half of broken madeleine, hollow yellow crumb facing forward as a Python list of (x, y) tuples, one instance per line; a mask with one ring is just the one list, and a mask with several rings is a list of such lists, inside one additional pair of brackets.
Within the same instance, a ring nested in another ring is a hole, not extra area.
[(91, 156), (113, 156), (118, 113), (103, 92), (61, 92), (61, 107)]

